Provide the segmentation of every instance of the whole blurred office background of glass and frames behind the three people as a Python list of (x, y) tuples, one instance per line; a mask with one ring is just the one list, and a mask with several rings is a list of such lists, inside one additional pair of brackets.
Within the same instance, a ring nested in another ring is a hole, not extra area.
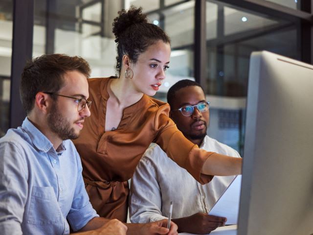
[(170, 69), (155, 97), (166, 100), (180, 79), (200, 82), (211, 101), (208, 134), (243, 154), (250, 53), (268, 50), (312, 63), (312, 2), (0, 0), (0, 136), (25, 117), (19, 82), (26, 59), (79, 55), (92, 77), (114, 75), (112, 21), (133, 4), (172, 40)]

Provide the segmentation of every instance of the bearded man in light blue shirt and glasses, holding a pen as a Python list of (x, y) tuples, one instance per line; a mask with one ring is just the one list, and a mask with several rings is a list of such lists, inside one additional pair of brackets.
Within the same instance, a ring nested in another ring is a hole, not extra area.
[(165, 220), (123, 224), (93, 210), (69, 140), (78, 138), (90, 116), (89, 73), (87, 61), (63, 54), (43, 55), (25, 66), (20, 94), (27, 117), (0, 139), (2, 235), (67, 235), (69, 224), (77, 234), (169, 233)]

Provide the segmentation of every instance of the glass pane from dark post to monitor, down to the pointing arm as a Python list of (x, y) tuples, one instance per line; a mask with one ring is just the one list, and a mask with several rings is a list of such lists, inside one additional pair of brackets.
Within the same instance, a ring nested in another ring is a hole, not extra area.
[(206, 8), (208, 133), (243, 154), (250, 54), (268, 50), (299, 59), (297, 26), (217, 1)]

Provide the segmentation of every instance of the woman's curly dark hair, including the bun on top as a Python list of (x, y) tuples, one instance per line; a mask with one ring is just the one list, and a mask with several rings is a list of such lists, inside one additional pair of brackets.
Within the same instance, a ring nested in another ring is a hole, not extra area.
[(128, 11), (122, 9), (113, 22), (113, 33), (117, 44), (116, 72), (121, 71), (123, 55), (128, 55), (133, 63), (149, 46), (162, 40), (170, 44), (168, 35), (155, 24), (148, 23), (142, 8), (131, 6)]

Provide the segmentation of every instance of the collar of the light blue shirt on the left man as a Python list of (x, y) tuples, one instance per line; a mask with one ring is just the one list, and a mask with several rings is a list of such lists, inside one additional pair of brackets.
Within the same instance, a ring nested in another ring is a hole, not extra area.
[[(33, 123), (26, 117), (22, 123), (22, 129), (28, 134), (30, 140), (35, 145), (35, 147), (43, 152), (48, 152), (53, 148), (51, 141), (46, 138), (46, 136), (34, 126)], [(57, 149), (57, 153), (62, 154), (66, 150), (64, 141)]]

